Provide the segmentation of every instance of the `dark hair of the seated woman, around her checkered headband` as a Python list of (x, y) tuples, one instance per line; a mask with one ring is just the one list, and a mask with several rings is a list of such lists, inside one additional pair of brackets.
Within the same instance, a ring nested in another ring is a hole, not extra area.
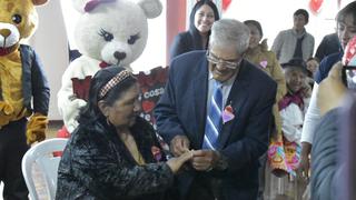
[(112, 106), (117, 99), (125, 94), (127, 89), (129, 89), (137, 82), (135, 77), (129, 76), (128, 78), (116, 84), (113, 88), (111, 88), (102, 98), (100, 98), (99, 93), (102, 87), (105, 87), (107, 82), (109, 82), (122, 70), (126, 69), (121, 67), (108, 67), (99, 70), (93, 76), (90, 82), (88, 102), (79, 112), (79, 123), (88, 123), (99, 118), (103, 118), (103, 114), (99, 110), (98, 102), (100, 100), (103, 100), (107, 106)]

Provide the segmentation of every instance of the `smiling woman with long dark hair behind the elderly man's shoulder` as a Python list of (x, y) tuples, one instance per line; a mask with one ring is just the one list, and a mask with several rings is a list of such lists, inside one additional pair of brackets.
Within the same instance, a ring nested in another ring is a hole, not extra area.
[(170, 48), (170, 60), (185, 52), (208, 48), (210, 29), (219, 20), (219, 12), (211, 0), (200, 0), (189, 17), (189, 30), (178, 33)]

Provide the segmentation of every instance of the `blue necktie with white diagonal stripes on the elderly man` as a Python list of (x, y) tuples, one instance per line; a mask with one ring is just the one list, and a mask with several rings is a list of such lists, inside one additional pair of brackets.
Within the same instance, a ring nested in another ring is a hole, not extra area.
[(202, 142), (202, 149), (212, 149), (217, 147), (217, 139), (222, 127), (221, 119), (222, 110), (222, 92), (221, 84), (215, 82), (214, 94), (210, 100), (210, 106), (208, 110), (207, 121), (205, 126), (205, 136)]

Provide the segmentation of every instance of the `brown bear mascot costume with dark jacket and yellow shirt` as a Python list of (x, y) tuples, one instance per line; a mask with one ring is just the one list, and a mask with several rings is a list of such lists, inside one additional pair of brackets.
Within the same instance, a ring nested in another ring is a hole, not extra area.
[(47, 0), (0, 0), (0, 181), (3, 199), (28, 199), (21, 160), (46, 138), (49, 87), (36, 52), (20, 41), (38, 23)]

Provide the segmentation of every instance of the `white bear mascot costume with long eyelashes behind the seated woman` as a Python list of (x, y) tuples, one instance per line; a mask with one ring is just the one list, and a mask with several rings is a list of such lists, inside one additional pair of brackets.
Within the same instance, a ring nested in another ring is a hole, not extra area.
[(72, 3), (81, 13), (75, 40), (82, 56), (66, 69), (58, 92), (65, 122), (58, 137), (63, 138), (78, 126), (76, 118), (87, 103), (91, 77), (107, 66), (130, 69), (146, 47), (147, 19), (158, 17), (162, 10), (159, 0), (72, 0)]

